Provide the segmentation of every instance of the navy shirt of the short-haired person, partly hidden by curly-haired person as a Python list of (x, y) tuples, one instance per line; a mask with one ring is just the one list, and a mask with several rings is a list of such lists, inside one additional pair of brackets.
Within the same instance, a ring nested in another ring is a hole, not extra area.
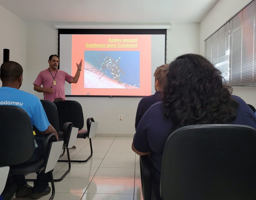
[(135, 130), (137, 129), (137, 126), (142, 118), (142, 116), (145, 114), (145, 112), (152, 106), (154, 103), (162, 101), (162, 92), (156, 91), (155, 94), (144, 97), (141, 99), (140, 103), (138, 104), (137, 112), (136, 112), (136, 118), (135, 118)]

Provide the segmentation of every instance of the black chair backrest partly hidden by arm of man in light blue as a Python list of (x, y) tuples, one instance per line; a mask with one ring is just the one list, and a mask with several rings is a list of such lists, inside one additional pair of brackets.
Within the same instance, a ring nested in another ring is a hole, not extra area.
[[(56, 132), (59, 133), (59, 118), (58, 118), (58, 111), (55, 104), (47, 100), (40, 100), (40, 101), (45, 110), (48, 121), (53, 126), (53, 128), (55, 128)], [(33, 130), (36, 132), (36, 136), (40, 136), (40, 137), (44, 136), (44, 134), (42, 134), (35, 126), (33, 126)]]

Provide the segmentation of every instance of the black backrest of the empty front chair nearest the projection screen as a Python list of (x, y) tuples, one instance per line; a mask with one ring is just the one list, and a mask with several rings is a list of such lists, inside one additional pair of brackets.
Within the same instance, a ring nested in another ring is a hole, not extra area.
[(56, 101), (54, 103), (58, 110), (60, 131), (63, 132), (63, 125), (66, 122), (71, 122), (79, 130), (83, 128), (83, 110), (80, 103), (73, 100)]

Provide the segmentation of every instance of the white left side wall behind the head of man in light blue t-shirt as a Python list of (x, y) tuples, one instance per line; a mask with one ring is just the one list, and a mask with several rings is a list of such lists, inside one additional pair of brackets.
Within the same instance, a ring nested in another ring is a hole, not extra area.
[(0, 65), (3, 63), (3, 49), (10, 49), (10, 60), (18, 62), (23, 68), (23, 84), (20, 89), (26, 91), (26, 22), (0, 5), (0, 25)]

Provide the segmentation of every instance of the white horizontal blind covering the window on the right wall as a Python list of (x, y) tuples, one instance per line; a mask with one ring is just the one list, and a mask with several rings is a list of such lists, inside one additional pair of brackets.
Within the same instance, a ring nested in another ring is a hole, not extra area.
[(205, 57), (231, 86), (256, 85), (255, 0), (205, 40)]

